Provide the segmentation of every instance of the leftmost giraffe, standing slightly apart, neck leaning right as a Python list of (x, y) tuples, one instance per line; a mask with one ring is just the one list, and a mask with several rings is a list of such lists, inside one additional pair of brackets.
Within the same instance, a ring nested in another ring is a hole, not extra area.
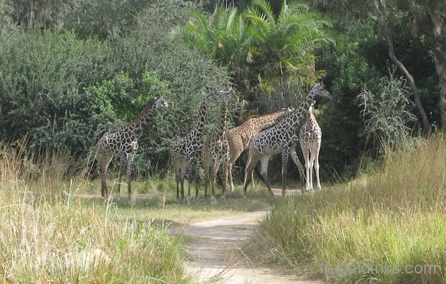
[(119, 159), (118, 170), (118, 194), (117, 199), (121, 198), (120, 187), (121, 178), (123, 176), (124, 168), (127, 170), (127, 184), (128, 184), (128, 198), (132, 198), (131, 189), (131, 173), (132, 164), (138, 149), (138, 135), (146, 127), (149, 121), (153, 118), (155, 111), (161, 107), (171, 107), (173, 104), (164, 97), (155, 100), (150, 107), (144, 111), (138, 118), (125, 124), (118, 132), (104, 134), (96, 144), (96, 159), (99, 161), (99, 172), (101, 180), (101, 196), (108, 198), (107, 182), (105, 174), (107, 168), (113, 157)]

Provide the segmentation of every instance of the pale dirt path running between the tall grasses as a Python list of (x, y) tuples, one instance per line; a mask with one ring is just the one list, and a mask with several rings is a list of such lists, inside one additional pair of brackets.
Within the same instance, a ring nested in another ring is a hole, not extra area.
[(192, 223), (184, 228), (172, 228), (185, 235), (190, 244), (190, 262), (187, 269), (197, 276), (197, 283), (217, 280), (217, 283), (240, 284), (315, 284), (277, 274), (277, 272), (252, 264), (240, 248), (254, 232), (266, 210), (248, 212), (213, 221)]

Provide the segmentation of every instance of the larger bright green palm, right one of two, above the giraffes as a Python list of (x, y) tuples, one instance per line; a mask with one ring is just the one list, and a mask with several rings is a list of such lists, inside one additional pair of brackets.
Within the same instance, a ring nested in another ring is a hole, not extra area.
[(341, 40), (328, 19), (302, 3), (284, 1), (276, 17), (268, 1), (254, 0), (245, 15), (268, 42), (256, 58), (266, 89), (284, 81), (312, 84), (322, 73), (315, 70), (315, 49)]

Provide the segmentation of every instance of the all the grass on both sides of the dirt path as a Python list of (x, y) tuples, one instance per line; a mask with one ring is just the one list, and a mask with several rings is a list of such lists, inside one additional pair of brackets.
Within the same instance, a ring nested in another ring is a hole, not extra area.
[[(10, 283), (191, 283), (180, 226), (272, 208), (244, 250), (254, 263), (334, 283), (446, 281), (446, 143), (388, 149), (374, 173), (271, 199), (240, 187), (217, 205), (177, 203), (173, 178), (134, 182), (134, 200), (100, 198), (100, 182), (67, 178), (66, 155), (0, 157), (0, 274)], [(112, 178), (109, 187), (116, 187)], [(121, 195), (126, 196), (126, 184)], [(220, 194), (220, 192), (219, 192)]]

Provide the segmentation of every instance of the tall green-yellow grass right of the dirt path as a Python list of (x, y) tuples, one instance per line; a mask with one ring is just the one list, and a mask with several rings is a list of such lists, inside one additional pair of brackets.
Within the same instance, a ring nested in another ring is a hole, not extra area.
[(408, 141), (374, 174), (279, 201), (246, 250), (335, 283), (445, 283), (445, 190), (445, 141)]

